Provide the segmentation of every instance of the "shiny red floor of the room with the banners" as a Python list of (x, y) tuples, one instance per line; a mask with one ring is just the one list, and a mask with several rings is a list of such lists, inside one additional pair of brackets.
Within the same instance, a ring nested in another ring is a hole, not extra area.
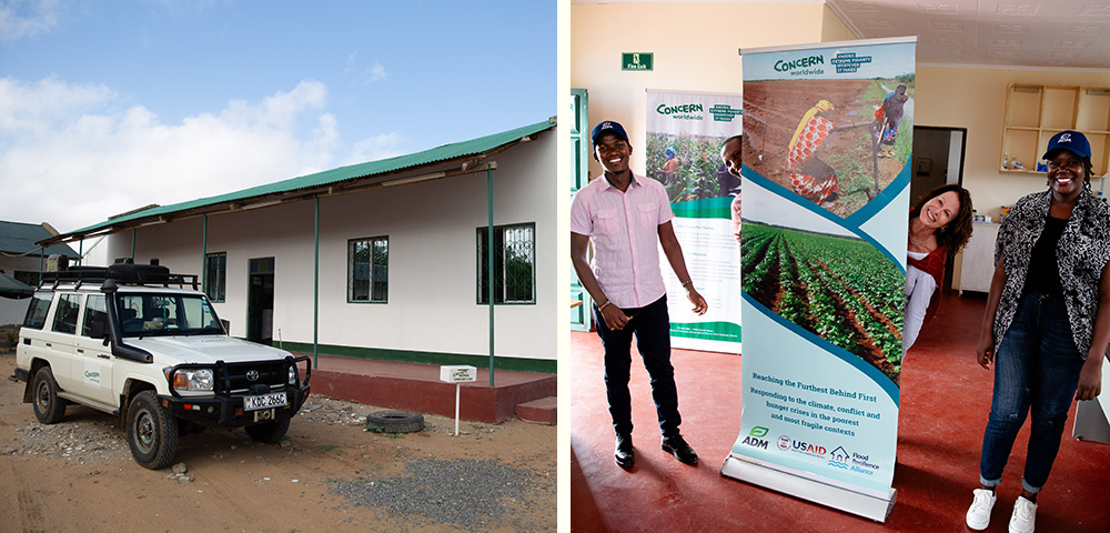
[[(613, 462), (613, 429), (602, 381), (601, 341), (572, 333), (571, 527), (605, 531), (970, 531), (963, 514), (979, 479), (979, 449), (992, 373), (975, 362), (985, 300), (947, 295), (902, 370), (898, 503), (877, 523), (719, 474), (736, 441), (741, 358), (676, 350), (683, 434), (700, 464), (659, 450), (647, 373), (634, 355), (633, 442), (636, 465)], [(638, 364), (638, 366), (637, 366)], [(1110, 384), (1103, 384), (1103, 394)], [(1071, 438), (1074, 406), (1052, 475), (1040, 496), (1038, 532), (1110, 532), (1110, 445)], [(1020, 491), (1027, 429), (1018, 436), (987, 531), (1006, 531)]]

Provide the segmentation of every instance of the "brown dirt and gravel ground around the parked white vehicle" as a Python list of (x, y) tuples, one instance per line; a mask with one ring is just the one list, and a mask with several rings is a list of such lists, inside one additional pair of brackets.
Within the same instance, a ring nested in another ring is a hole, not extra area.
[(555, 531), (556, 429), (425, 415), (364, 431), (370, 405), (310, 396), (280, 445), (242, 430), (182, 435), (176, 463), (131, 459), (115, 416), (71, 405), (43, 425), (0, 350), (4, 532)]

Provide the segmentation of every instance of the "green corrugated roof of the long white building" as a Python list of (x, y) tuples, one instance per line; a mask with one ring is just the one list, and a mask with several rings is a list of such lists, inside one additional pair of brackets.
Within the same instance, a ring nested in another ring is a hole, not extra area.
[(137, 224), (128, 224), (129, 221), (169, 215), (181, 211), (204, 208), (206, 205), (216, 205), (228, 202), (234, 202), (238, 200), (264, 197), (266, 194), (275, 194), (275, 193), (296, 191), (300, 189), (311, 189), (314, 187), (330, 185), (339, 183), (341, 181), (387, 174), (400, 170), (413, 169), (416, 167), (432, 164), (441, 161), (447, 161), (451, 159), (463, 158), (467, 155), (476, 155), (503, 147), (511, 142), (518, 141), (531, 134), (548, 130), (554, 127), (555, 127), (555, 119), (551, 118), (543, 122), (536, 122), (531, 125), (525, 125), (522, 128), (516, 128), (514, 130), (508, 130), (501, 133), (494, 133), (492, 135), (472, 139), (470, 141), (444, 144), (442, 147), (433, 148), (431, 150), (425, 150), (423, 152), (416, 152), (407, 155), (397, 155), (395, 158), (382, 159), (379, 161), (370, 161), (365, 163), (341, 167), (337, 169), (325, 170), (323, 172), (316, 172), (314, 174), (292, 178), (275, 183), (252, 187), (250, 189), (243, 189), (236, 192), (229, 192), (226, 194), (220, 194), (216, 197), (201, 198), (198, 200), (190, 200), (186, 202), (175, 203), (173, 205), (162, 205), (162, 207), (145, 209), (138, 212), (129, 213), (123, 217), (109, 219), (104, 222), (100, 222), (90, 225), (88, 228), (82, 228), (80, 230), (74, 230), (69, 233), (63, 233), (50, 240), (61, 241), (73, 235), (87, 235), (113, 225), (130, 228)]

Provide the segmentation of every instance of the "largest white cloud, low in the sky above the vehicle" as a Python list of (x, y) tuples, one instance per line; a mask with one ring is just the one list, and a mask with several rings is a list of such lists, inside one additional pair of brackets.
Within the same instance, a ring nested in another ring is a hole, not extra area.
[[(2, 218), (72, 231), (150, 203), (337, 167), (343, 143), (335, 117), (323, 112), (326, 100), (323, 83), (303, 81), (169, 124), (142, 105), (118, 110), (104, 87), (0, 79)], [(366, 142), (355, 151), (390, 145)]]

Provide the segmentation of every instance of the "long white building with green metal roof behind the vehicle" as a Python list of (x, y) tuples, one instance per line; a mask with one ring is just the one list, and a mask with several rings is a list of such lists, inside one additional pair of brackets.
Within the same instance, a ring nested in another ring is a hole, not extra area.
[(556, 133), (552, 118), (40, 244), (108, 235), (110, 258), (200, 273), (233, 335), (286, 350), (554, 373)]

